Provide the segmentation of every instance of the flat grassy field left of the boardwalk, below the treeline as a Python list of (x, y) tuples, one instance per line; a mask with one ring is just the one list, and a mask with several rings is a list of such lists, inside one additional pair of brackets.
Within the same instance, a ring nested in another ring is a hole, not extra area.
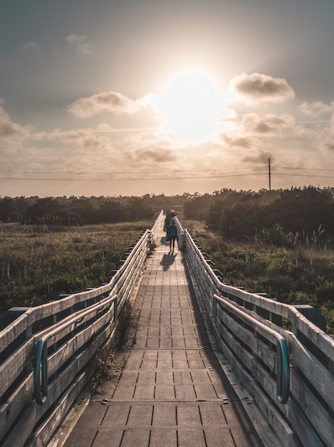
[(0, 224), (0, 315), (106, 281), (152, 221), (91, 226)]

